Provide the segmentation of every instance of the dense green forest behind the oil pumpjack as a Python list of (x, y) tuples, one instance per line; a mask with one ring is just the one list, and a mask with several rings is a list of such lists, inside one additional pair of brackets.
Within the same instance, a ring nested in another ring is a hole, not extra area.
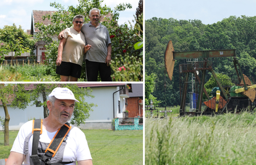
[[(175, 51), (201, 51), (213, 49), (236, 49), (236, 56), (243, 74), (256, 77), (256, 16), (230, 16), (221, 22), (204, 25), (200, 20), (176, 20), (153, 17), (145, 20), (145, 69), (148, 75), (154, 73), (156, 90), (153, 96), (164, 106), (179, 105), (179, 64), (175, 62), (173, 80), (164, 75), (164, 52), (169, 40)], [(236, 78), (232, 57), (211, 59), (217, 74)], [(206, 82), (211, 77), (207, 73)], [(164, 78), (166, 78), (166, 99), (164, 99)], [(191, 78), (189, 79), (191, 80)], [(190, 85), (189, 85), (190, 86)], [(189, 89), (190, 90), (190, 89)]]

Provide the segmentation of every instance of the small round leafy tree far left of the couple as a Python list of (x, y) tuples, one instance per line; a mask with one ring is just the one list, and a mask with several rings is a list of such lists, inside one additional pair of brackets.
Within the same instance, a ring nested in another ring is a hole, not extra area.
[[(0, 62), (4, 58), (4, 53), (11, 51), (15, 52), (15, 56), (20, 56), (24, 52), (33, 51), (34, 41), (30, 39), (30, 35), (27, 35), (22, 30), (22, 27), (17, 28), (15, 24), (12, 26), (4, 26), (0, 29), (0, 43), (3, 43), (1, 47), (4, 47), (4, 51), (0, 53)], [(3, 49), (3, 48), (2, 48)], [(12, 56), (13, 57), (13, 56)]]

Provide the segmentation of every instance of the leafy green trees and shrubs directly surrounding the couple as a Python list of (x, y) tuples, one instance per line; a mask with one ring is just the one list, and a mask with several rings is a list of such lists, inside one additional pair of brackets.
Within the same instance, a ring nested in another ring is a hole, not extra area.
[[(126, 9), (130, 9), (132, 6), (127, 4), (119, 4), (116, 7), (114, 7), (114, 10), (107, 7), (106, 5), (102, 5), (103, 1), (99, 0), (85, 0), (80, 1), (79, 5), (77, 6), (69, 6), (67, 9), (64, 9), (64, 6), (57, 2), (53, 2), (50, 4), (50, 6), (58, 9), (58, 11), (53, 12), (51, 15), (46, 15), (46, 17), (43, 17), (44, 19), (51, 19), (52, 24), (51, 25), (43, 25), (43, 23), (38, 23), (37, 26), (40, 33), (37, 34), (36, 38), (37, 40), (45, 40), (46, 42), (50, 43), (48, 46), (46, 46), (46, 64), (48, 66), (48, 74), (56, 75), (56, 59), (58, 54), (58, 45), (59, 41), (56, 40), (56, 36), (58, 36), (59, 32), (64, 30), (65, 28), (72, 27), (72, 19), (75, 15), (81, 14), (85, 15), (85, 23), (89, 22), (90, 19), (88, 17), (90, 9), (93, 7), (97, 7), (101, 11), (101, 24), (105, 25), (108, 28), (109, 36), (111, 36), (112, 41), (112, 59), (114, 62), (119, 61), (125, 61), (126, 56), (132, 57), (134, 56), (135, 59), (142, 60), (142, 56), (140, 56), (140, 53), (142, 52), (142, 49), (135, 50), (133, 48), (133, 45), (137, 43), (138, 41), (142, 41), (142, 39), (135, 35), (135, 32), (137, 29), (134, 27), (128, 27), (126, 24), (124, 25), (117, 25), (117, 20), (119, 19), (119, 12), (125, 11)], [(105, 17), (104, 15), (107, 15), (111, 13), (111, 17)], [(126, 56), (125, 56), (126, 55)], [(122, 60), (121, 60), (122, 59)], [(111, 63), (114, 63), (111, 62)], [(133, 63), (134, 61), (128, 62), (129, 66), (133, 65), (136, 66), (136, 64)], [(116, 64), (116, 63), (115, 63)], [(116, 67), (124, 66), (124, 63), (121, 62), (120, 66), (111, 66), (113, 69), (112, 74), (116, 72)], [(141, 65), (142, 66), (142, 65)], [(137, 75), (142, 75), (142, 67), (137, 66), (139, 70), (136, 71)], [(85, 76), (85, 64), (82, 66), (82, 75), (81, 78), (83, 80), (86, 80)], [(141, 79), (141, 78), (140, 78)], [(113, 79), (115, 80), (115, 79)], [(127, 79), (128, 81), (129, 79)], [(132, 78), (133, 81), (138, 81), (134, 78)]]

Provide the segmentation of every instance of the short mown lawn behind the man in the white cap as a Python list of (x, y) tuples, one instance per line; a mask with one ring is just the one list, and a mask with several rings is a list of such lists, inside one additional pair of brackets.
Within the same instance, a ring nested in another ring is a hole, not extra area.
[[(142, 130), (82, 130), (97, 164), (143, 164)], [(4, 146), (4, 133), (0, 132), (0, 159), (7, 158), (17, 131), (10, 132), (10, 146)]]

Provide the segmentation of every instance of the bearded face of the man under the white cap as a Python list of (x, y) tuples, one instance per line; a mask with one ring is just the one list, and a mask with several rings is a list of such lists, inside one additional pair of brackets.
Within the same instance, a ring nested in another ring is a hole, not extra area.
[(51, 112), (53, 117), (60, 122), (65, 124), (71, 118), (75, 108), (75, 101), (71, 99), (56, 99)]

